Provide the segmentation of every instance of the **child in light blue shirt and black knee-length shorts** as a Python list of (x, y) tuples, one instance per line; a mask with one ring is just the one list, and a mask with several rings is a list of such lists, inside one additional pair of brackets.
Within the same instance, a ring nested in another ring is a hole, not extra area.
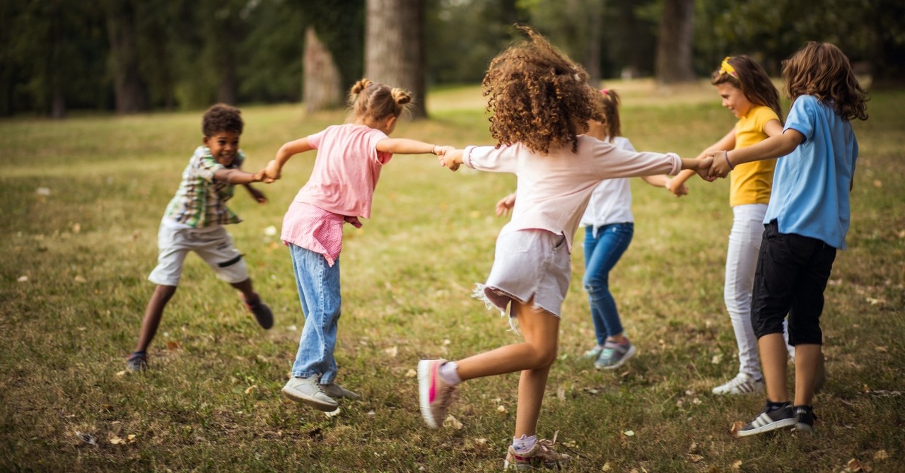
[[(845, 248), (849, 193), (858, 141), (853, 118), (867, 119), (865, 93), (843, 52), (806, 43), (783, 62), (793, 100), (781, 135), (733, 151), (713, 151), (711, 176), (736, 166), (779, 159), (757, 258), (751, 323), (763, 361), (767, 405), (738, 437), (770, 430), (814, 430), (814, 383), (823, 357), (820, 316), (836, 250)], [(786, 343), (795, 346), (795, 404), (786, 391)]]

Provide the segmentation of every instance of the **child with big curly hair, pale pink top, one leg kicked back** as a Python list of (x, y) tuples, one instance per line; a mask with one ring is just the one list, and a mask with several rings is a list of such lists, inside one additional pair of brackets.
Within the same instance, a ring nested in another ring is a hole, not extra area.
[[(483, 80), (490, 96), (491, 136), (497, 147), (448, 151), (443, 166), (462, 163), (517, 177), (512, 220), (500, 231), (491, 274), (475, 296), (518, 319), (525, 342), (458, 362), (421, 360), (421, 414), (433, 429), (443, 425), (456, 385), (481, 376), (521, 372), (515, 436), (506, 468), (555, 467), (568, 456), (538, 440), (537, 423), (550, 366), (557, 356), (560, 306), (571, 271), (572, 238), (586, 203), (601, 180), (633, 175), (706, 173), (710, 159), (633, 153), (579, 136), (588, 120), (603, 121), (600, 94), (587, 73), (546, 39), (522, 27), (529, 41), (491, 61)], [(513, 320), (510, 318), (510, 324)]]

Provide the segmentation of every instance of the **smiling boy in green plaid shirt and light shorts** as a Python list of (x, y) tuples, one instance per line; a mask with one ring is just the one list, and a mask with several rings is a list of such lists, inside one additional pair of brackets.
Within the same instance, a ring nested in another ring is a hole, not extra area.
[(138, 345), (126, 361), (126, 368), (131, 371), (148, 367), (148, 345), (157, 333), (164, 307), (176, 294), (189, 251), (205, 260), (219, 279), (239, 289), (245, 307), (258, 324), (265, 329), (273, 326), (271, 309), (254, 292), (242, 253), (233, 247), (233, 237), (224, 228), (226, 224), (242, 222), (226, 207), (235, 184), (243, 184), (259, 203), (267, 203), (264, 194), (250, 184), (261, 182), (263, 172), (252, 175), (242, 170), (245, 155), (239, 149), (244, 126), (241, 114), (239, 109), (217, 104), (207, 109), (202, 118), (204, 146), (197, 147), (189, 159), (179, 189), (160, 221), (157, 268), (148, 276), (157, 289), (145, 309)]

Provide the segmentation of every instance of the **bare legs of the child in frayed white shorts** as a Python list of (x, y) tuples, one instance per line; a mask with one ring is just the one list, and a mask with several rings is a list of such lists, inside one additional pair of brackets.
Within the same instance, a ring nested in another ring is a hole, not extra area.
[(513, 302), (525, 342), (457, 361), (462, 380), (520, 371), (519, 406), (515, 437), (535, 435), (540, 404), (544, 399), (550, 366), (556, 361), (559, 318), (532, 307), (533, 303)]

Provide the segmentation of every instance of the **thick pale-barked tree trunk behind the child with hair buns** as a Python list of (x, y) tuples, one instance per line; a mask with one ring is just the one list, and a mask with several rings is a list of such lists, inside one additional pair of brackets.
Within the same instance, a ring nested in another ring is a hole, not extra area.
[(410, 90), (413, 118), (424, 105), (424, 0), (367, 0), (365, 77)]

